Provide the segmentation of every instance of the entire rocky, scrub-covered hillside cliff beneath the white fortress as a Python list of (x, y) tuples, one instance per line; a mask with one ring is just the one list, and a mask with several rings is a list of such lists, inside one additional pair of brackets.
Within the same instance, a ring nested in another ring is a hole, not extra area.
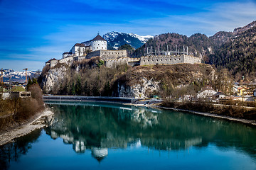
[(215, 77), (208, 64), (120, 65), (111, 69), (99, 63), (86, 60), (71, 67), (59, 64), (50, 68), (41, 75), (42, 89), (46, 94), (147, 98), (168, 96), (176, 88), (199, 91)]

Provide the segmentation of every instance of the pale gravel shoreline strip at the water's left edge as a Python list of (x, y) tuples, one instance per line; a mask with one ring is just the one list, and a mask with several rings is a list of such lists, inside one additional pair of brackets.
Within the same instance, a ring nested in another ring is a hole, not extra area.
[(6, 130), (0, 134), (0, 146), (9, 142), (13, 142), (15, 138), (27, 135), (33, 130), (45, 128), (50, 125), (53, 119), (54, 113), (50, 111), (50, 108), (46, 108), (41, 113), (37, 113), (27, 123), (19, 125), (14, 129)]

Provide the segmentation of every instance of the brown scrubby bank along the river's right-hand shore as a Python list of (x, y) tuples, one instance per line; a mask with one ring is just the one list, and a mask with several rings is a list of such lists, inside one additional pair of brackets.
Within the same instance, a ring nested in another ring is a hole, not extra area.
[(213, 103), (203, 102), (175, 102), (164, 101), (161, 106), (167, 108), (180, 108), (189, 111), (199, 111), (213, 113), (216, 115), (225, 115), (232, 118), (242, 118), (246, 120), (256, 120), (256, 108), (246, 108), (245, 106), (232, 105), (214, 105)]

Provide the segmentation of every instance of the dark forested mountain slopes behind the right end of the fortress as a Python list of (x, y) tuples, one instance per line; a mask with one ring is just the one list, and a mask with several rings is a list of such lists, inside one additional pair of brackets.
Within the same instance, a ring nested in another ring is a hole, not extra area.
[(155, 35), (142, 47), (134, 51), (132, 57), (141, 57), (146, 49), (178, 50), (188, 47), (191, 55), (201, 57), (207, 64), (215, 64), (219, 68), (228, 68), (233, 74), (256, 74), (256, 21), (233, 32), (220, 31), (211, 37), (196, 33), (187, 37), (177, 33)]

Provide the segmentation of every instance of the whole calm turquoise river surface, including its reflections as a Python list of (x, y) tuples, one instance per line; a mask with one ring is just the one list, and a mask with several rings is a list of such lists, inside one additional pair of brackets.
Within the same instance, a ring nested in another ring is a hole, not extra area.
[(0, 147), (1, 169), (256, 169), (256, 128), (110, 103), (48, 102), (49, 128)]

